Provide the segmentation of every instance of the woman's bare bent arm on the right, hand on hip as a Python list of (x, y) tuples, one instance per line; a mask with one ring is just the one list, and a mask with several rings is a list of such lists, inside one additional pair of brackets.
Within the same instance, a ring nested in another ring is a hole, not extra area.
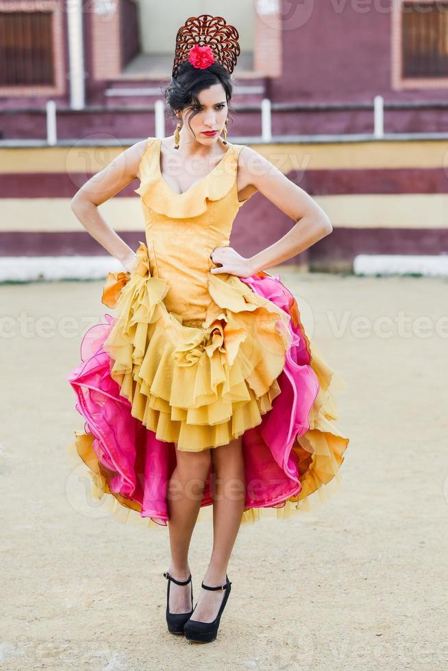
[(260, 191), (296, 223), (283, 238), (249, 259), (244, 259), (232, 248), (216, 247), (212, 260), (221, 266), (212, 268), (212, 273), (232, 273), (240, 277), (255, 275), (308, 249), (333, 230), (325, 212), (306, 191), (264, 156), (250, 147), (244, 147), (238, 161), (238, 191), (247, 189), (248, 193), (251, 186), (252, 192)]

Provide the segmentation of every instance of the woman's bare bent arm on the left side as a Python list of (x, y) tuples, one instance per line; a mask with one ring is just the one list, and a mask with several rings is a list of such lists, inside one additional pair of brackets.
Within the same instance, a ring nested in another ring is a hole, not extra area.
[(132, 270), (134, 264), (137, 264), (136, 255), (106, 223), (99, 213), (98, 205), (108, 201), (138, 176), (138, 167), (146, 146), (147, 140), (142, 140), (125, 149), (108, 166), (86, 181), (71, 200), (71, 209), (84, 228), (127, 270)]

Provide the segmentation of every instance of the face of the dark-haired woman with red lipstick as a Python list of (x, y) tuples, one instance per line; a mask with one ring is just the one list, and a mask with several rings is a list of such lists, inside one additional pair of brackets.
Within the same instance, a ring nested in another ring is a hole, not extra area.
[[(214, 84), (210, 88), (204, 88), (199, 92), (198, 99), (200, 106), (192, 103), (190, 107), (182, 110), (182, 134), (186, 133), (190, 140), (201, 142), (201, 144), (211, 144), (221, 135), (223, 131), (225, 119), (227, 118), (227, 100), (225, 98), (225, 90), (222, 84)], [(188, 116), (192, 110), (197, 112), (195, 116), (190, 118), (190, 126), (195, 135), (192, 135), (188, 125)], [(216, 131), (214, 135), (204, 134), (205, 131)], [(196, 138), (195, 138), (196, 136)]]

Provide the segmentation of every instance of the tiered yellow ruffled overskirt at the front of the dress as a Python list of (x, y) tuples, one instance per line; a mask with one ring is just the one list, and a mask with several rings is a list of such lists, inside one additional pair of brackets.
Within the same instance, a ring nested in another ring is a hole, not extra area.
[(184, 326), (164, 305), (169, 285), (151, 277), (144, 242), (136, 254), (124, 286), (109, 273), (103, 292), (119, 313), (104, 342), (111, 377), (159, 440), (192, 452), (228, 444), (259, 425), (280, 393), (290, 316), (235, 275), (209, 273), (208, 316)]

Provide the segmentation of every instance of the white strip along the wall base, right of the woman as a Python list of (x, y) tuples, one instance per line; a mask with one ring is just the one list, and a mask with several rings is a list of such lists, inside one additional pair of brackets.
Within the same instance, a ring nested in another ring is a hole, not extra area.
[(353, 259), (355, 275), (448, 276), (448, 254), (438, 256), (358, 254)]

